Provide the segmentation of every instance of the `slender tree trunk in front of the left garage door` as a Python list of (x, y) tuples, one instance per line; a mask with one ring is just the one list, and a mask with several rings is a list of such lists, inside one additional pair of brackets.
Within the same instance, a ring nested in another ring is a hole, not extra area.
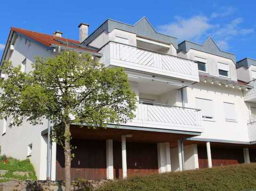
[(70, 124), (65, 120), (63, 121), (65, 124), (65, 191), (71, 191), (71, 149), (70, 149)]

